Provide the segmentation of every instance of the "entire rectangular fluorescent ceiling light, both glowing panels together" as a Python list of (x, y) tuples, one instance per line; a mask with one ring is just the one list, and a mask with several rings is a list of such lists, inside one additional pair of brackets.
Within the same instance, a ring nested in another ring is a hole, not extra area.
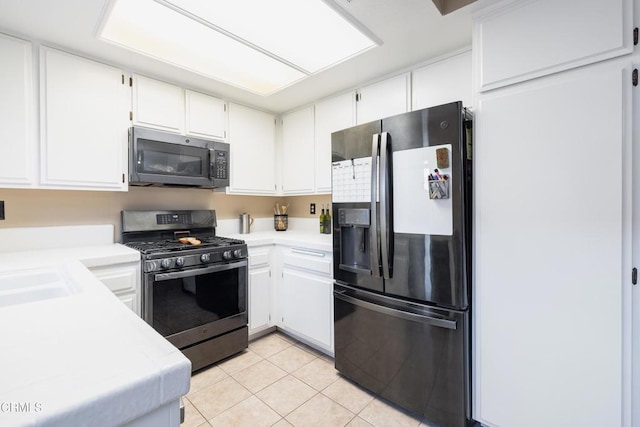
[(99, 37), (269, 95), (377, 44), (322, 0), (112, 0)]

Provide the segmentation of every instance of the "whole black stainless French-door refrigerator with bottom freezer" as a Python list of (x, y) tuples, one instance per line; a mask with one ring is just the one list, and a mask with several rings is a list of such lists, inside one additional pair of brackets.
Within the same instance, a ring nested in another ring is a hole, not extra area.
[(461, 102), (332, 134), (335, 366), (467, 426), (471, 114)]

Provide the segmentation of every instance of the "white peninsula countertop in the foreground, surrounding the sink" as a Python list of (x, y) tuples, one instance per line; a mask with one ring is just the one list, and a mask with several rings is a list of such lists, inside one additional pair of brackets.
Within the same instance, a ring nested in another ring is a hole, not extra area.
[(0, 308), (0, 425), (120, 425), (187, 393), (178, 349), (80, 262), (59, 267), (78, 293)]

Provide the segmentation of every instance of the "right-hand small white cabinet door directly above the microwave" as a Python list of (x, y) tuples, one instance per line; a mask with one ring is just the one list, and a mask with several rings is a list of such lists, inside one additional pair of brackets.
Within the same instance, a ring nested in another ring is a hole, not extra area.
[(187, 135), (223, 140), (227, 137), (227, 106), (222, 99), (185, 91)]

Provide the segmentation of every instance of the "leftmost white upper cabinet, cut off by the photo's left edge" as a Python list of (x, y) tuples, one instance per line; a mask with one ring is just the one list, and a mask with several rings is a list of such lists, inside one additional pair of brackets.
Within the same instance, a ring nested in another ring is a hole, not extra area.
[(0, 34), (0, 186), (36, 182), (36, 115), (31, 43)]

